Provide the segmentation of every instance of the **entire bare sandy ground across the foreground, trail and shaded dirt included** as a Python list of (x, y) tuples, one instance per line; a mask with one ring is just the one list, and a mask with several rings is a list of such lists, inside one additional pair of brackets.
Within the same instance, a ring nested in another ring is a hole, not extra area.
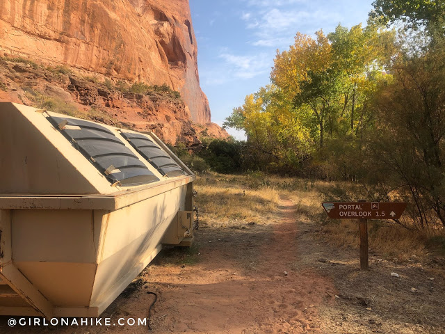
[(156, 292), (152, 331), (9, 328), (0, 317), (0, 333), (445, 333), (443, 264), (397, 264), (371, 251), (362, 272), (355, 250), (333, 248), (320, 232), (282, 198), (267, 222), (207, 226), (191, 250), (163, 251), (102, 315), (145, 318), (147, 292)]

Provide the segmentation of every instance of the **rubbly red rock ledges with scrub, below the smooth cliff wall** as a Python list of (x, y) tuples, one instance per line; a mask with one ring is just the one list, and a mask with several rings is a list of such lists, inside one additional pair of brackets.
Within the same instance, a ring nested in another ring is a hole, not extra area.
[(10, 56), (0, 58), (0, 102), (3, 101), (115, 127), (151, 131), (167, 143), (184, 143), (191, 150), (200, 148), (202, 136), (229, 137), (216, 124), (191, 121), (184, 102), (172, 91), (124, 93), (94, 77)]

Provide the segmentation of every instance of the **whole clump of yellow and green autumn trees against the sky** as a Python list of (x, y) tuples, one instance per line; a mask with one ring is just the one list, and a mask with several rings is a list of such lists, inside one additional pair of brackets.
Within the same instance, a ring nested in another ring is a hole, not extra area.
[(328, 159), (329, 141), (356, 148), (350, 142), (372, 126), (369, 100), (385, 77), (393, 45), (394, 32), (377, 26), (339, 25), (316, 38), (297, 33), (289, 50), (277, 52), (272, 84), (248, 95), (224, 125), (243, 129), (249, 147), (277, 168)]

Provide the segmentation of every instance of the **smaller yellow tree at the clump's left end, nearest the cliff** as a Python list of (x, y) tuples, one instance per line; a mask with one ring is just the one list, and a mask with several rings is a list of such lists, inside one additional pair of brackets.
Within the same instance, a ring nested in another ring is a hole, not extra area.
[(259, 169), (296, 170), (313, 148), (309, 130), (302, 125), (292, 102), (274, 85), (246, 96), (243, 106), (234, 109), (225, 126), (245, 131), (245, 159), (257, 161)]

